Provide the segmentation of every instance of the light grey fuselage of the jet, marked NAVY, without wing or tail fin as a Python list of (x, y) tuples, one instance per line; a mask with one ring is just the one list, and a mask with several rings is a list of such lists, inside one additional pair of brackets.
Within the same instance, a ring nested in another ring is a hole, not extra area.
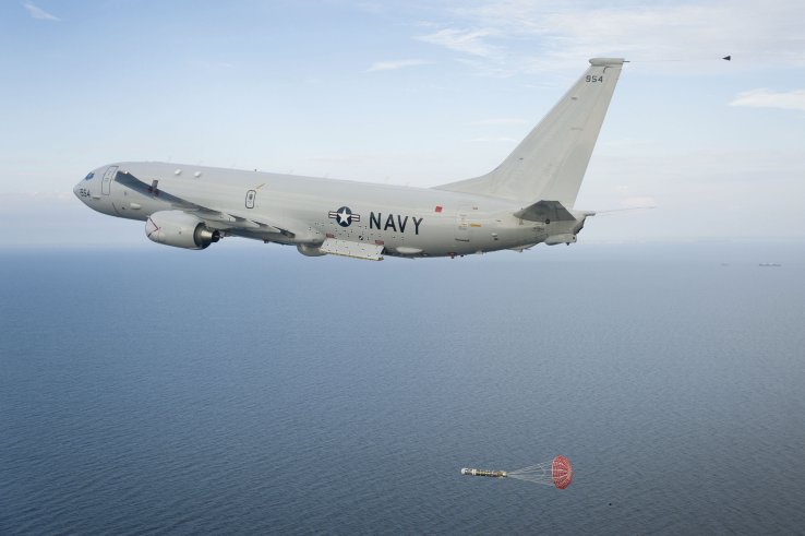
[[(109, 169), (128, 171), (148, 184), (156, 181), (156, 194), (140, 193), (113, 177), (104, 187)], [(164, 190), (245, 221), (283, 222), (277, 227), (291, 227), (292, 237), (274, 226), (227, 230), (228, 223), (221, 222), (220, 227), (228, 235), (296, 245), (311, 252), (335, 238), (380, 245), (391, 255), (465, 255), (525, 249), (549, 235), (573, 234), (577, 224), (528, 222), (513, 215), (524, 209), (521, 204), (426, 188), (164, 163), (111, 164), (91, 176), (74, 192), (100, 213), (146, 221), (154, 213), (175, 210), (170, 200), (160, 199)], [(351, 216), (339, 217), (337, 211), (343, 207)]]

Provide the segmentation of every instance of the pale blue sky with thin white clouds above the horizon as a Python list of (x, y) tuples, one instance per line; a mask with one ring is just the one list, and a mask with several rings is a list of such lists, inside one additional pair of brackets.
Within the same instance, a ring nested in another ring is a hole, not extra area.
[(146, 243), (72, 194), (111, 162), (483, 175), (592, 57), (629, 63), (576, 207), (656, 207), (580, 242), (802, 241), (803, 20), (776, 0), (3, 0), (0, 247)]

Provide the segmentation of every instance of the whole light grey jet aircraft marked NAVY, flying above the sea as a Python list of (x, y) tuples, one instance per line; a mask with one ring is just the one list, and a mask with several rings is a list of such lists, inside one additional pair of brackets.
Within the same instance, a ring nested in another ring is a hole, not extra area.
[(73, 192), (91, 209), (145, 222), (153, 241), (205, 249), (238, 236), (311, 257), (461, 257), (572, 243), (593, 212), (574, 210), (624, 60), (593, 58), (508, 157), (434, 188), (154, 162), (101, 166)]

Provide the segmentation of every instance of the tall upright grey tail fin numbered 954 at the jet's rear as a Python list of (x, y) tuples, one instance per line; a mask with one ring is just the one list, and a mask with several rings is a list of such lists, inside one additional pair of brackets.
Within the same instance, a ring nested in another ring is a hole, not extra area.
[(622, 58), (591, 59), (587, 72), (494, 171), (436, 189), (572, 207), (623, 63)]

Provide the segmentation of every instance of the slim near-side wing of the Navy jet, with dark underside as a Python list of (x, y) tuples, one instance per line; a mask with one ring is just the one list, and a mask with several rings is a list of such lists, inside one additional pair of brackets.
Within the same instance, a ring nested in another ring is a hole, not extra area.
[(173, 195), (165, 190), (160, 190), (155, 181), (153, 184), (148, 184), (139, 178), (134, 177), (128, 171), (118, 171), (115, 178), (116, 182), (134, 190), (148, 198), (159, 199), (167, 201), (175, 209), (184, 211), (189, 214), (194, 214), (201, 219), (204, 219), (211, 227), (220, 230), (249, 230), (249, 231), (264, 231), (285, 235), (289, 238), (295, 236), (290, 229), (275, 224), (274, 222), (267, 221), (265, 217), (260, 216), (253, 217), (251, 214), (244, 215), (232, 211), (220, 211), (215, 207), (208, 207), (200, 205), (192, 201), (188, 201), (178, 195)]

